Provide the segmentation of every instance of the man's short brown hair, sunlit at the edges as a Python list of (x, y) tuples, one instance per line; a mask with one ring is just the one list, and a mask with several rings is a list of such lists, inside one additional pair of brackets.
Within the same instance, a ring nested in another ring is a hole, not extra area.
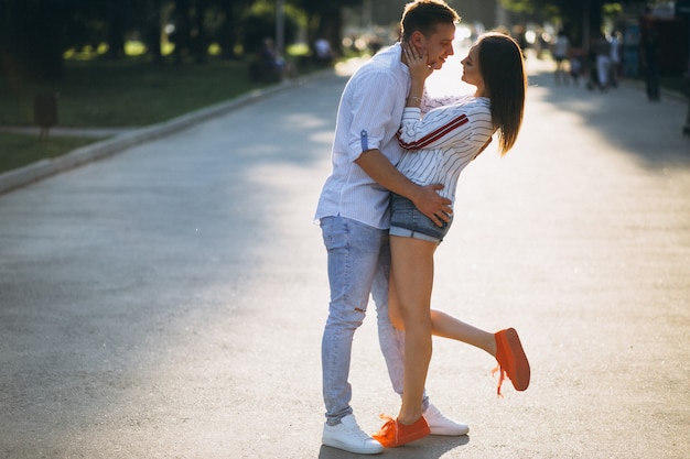
[(430, 36), (436, 31), (436, 24), (454, 24), (460, 17), (443, 0), (416, 0), (405, 6), (400, 33), (402, 41), (407, 42), (414, 31), (420, 31), (424, 36)]

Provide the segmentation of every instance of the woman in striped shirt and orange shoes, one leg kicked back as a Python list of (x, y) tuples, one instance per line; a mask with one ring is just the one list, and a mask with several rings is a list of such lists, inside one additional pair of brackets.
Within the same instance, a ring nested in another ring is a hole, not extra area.
[[(522, 122), (527, 79), (518, 44), (507, 35), (481, 36), (462, 61), (463, 81), (476, 87), (474, 96), (431, 110), (421, 117), (424, 80), (433, 72), (423, 53), (405, 48), (412, 86), (399, 132), (408, 151), (398, 168), (420, 185), (442, 183), (439, 193), (454, 200), (457, 178), (498, 133), (505, 155), (515, 144)], [(431, 309), (433, 254), (451, 221), (436, 226), (407, 198), (391, 198), (389, 315), (406, 330), (402, 405), (397, 419), (388, 418), (373, 437), (384, 447), (400, 446), (429, 435), (422, 417), (422, 395), (431, 360), (432, 335), (484, 349), (496, 357), (500, 385), (507, 375), (516, 390), (529, 385), (529, 363), (514, 329), (490, 334), (440, 310)], [(452, 216), (449, 216), (452, 217)]]

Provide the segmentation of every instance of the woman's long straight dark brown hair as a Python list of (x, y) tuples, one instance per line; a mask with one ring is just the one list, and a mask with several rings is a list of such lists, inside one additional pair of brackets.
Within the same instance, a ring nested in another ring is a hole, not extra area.
[(520, 46), (510, 36), (488, 32), (478, 40), (479, 72), (492, 99), (492, 121), (498, 130), (498, 152), (515, 144), (525, 113), (527, 75)]

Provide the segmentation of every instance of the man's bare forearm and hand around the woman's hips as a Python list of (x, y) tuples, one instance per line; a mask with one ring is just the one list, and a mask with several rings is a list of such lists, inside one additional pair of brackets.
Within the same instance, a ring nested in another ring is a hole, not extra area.
[(410, 199), (436, 226), (450, 221), (449, 216), (453, 212), (451, 200), (436, 193), (443, 185), (417, 185), (402, 175), (377, 149), (363, 152), (355, 164), (379, 185)]

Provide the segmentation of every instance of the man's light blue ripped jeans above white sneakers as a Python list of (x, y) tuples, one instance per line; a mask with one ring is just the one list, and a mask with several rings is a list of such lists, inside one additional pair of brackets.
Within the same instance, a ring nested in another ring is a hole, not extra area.
[[(321, 229), (328, 252), (331, 284), (321, 345), (323, 397), (327, 423), (335, 425), (353, 413), (348, 382), (352, 343), (355, 330), (364, 321), (369, 294), (376, 305), (379, 345), (398, 394), (402, 394), (405, 334), (396, 330), (388, 318), (388, 230), (339, 216), (322, 218)], [(424, 395), (423, 407), (428, 403)]]

